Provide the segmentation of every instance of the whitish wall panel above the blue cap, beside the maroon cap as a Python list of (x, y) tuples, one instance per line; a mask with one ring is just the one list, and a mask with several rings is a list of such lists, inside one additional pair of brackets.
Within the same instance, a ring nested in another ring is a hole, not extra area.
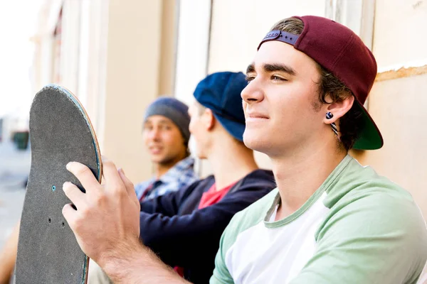
[(243, 71), (271, 26), (290, 16), (325, 14), (325, 1), (214, 0), (212, 6), (209, 73)]

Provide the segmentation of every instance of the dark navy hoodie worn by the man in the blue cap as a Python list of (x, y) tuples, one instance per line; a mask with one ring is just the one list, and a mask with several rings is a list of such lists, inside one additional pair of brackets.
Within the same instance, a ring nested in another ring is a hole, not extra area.
[(273, 172), (254, 170), (236, 182), (216, 204), (198, 209), (214, 185), (211, 175), (177, 192), (141, 203), (141, 239), (164, 263), (184, 268), (192, 283), (209, 283), (219, 240), (228, 222), (275, 188)]

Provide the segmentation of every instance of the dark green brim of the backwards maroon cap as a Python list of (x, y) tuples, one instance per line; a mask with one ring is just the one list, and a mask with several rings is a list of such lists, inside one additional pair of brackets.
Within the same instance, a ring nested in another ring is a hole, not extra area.
[(374, 119), (371, 118), (368, 111), (357, 99), (354, 102), (358, 110), (362, 112), (362, 127), (353, 148), (356, 150), (376, 150), (381, 148), (384, 145), (384, 141)]

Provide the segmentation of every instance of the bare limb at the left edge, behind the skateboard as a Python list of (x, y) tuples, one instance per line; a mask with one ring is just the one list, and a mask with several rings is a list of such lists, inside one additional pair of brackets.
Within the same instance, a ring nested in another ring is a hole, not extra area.
[(8, 284), (14, 271), (16, 251), (18, 251), (19, 224), (9, 236), (8, 241), (0, 253), (0, 284)]

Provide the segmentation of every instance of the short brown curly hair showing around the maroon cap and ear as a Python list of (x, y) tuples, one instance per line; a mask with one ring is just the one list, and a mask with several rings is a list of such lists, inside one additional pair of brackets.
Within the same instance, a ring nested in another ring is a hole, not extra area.
[[(285, 18), (270, 29), (285, 31), (300, 35), (304, 29), (304, 23), (299, 18)], [(332, 104), (334, 102), (342, 102), (344, 99), (352, 96), (353, 93), (341, 80), (332, 75), (322, 65), (317, 63), (317, 68), (320, 72), (320, 80), (317, 82), (319, 89), (318, 100), (313, 102), (313, 109), (319, 110), (320, 104)], [(327, 102), (326, 97), (330, 97), (331, 102)], [(339, 146), (349, 151), (357, 139), (361, 123), (362, 113), (357, 110), (355, 104), (347, 111), (344, 116), (339, 119)]]

